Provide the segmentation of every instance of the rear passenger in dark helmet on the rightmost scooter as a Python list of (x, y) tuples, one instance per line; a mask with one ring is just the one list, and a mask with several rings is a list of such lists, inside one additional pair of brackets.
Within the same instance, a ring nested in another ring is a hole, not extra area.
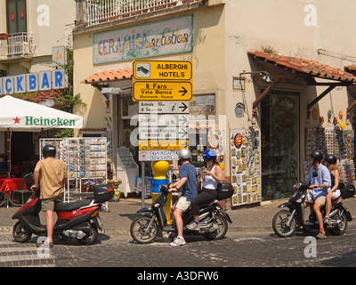
[(331, 200), (337, 199), (341, 195), (341, 191), (339, 189), (339, 182), (340, 182), (340, 172), (339, 168), (337, 167), (337, 159), (336, 156), (333, 154), (328, 154), (325, 157), (325, 161), (327, 162), (328, 170), (330, 171), (331, 175), (331, 190), (328, 191), (328, 195), (326, 197), (326, 205), (325, 205), (325, 217), (324, 217), (324, 224), (330, 223), (330, 211), (331, 211)]

